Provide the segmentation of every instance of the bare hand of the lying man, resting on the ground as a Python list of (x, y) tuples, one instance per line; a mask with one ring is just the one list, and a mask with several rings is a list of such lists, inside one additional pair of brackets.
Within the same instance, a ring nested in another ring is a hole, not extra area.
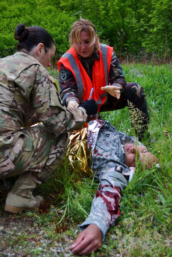
[(100, 247), (102, 247), (102, 232), (96, 225), (90, 224), (75, 239), (71, 249), (73, 254), (86, 255), (97, 251)]

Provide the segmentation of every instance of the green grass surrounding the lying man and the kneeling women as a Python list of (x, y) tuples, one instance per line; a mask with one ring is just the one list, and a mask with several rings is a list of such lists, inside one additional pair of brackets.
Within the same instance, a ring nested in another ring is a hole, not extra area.
[[(123, 65), (123, 69), (126, 80), (139, 83), (146, 92), (149, 131), (156, 143), (150, 146), (143, 141), (143, 144), (156, 155), (161, 168), (146, 170), (137, 165), (132, 181), (122, 193), (121, 217), (109, 229), (103, 248), (92, 256), (172, 256), (171, 67)], [(50, 72), (57, 81), (57, 71)], [(118, 131), (134, 134), (127, 108), (103, 113), (102, 118), (110, 121)], [(93, 177), (86, 178), (73, 172), (66, 156), (49, 181), (36, 189), (47, 198), (49, 207), (46, 212), (34, 211), (28, 215), (36, 226), (44, 227), (51, 240), (63, 240), (64, 234), (75, 239), (74, 231), (89, 214), (97, 186)], [(18, 239), (18, 244), (22, 245), (21, 241)], [(32, 256), (36, 254), (41, 254), (39, 248)]]

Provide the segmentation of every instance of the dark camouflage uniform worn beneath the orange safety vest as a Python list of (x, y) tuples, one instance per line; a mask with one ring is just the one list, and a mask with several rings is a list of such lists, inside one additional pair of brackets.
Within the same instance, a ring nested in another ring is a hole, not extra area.
[[(100, 60), (98, 52), (93, 51), (92, 57), (90, 59), (85, 59), (82, 56), (78, 55), (78, 58), (84, 67), (86, 73), (90, 77), (92, 81), (92, 67), (95, 60)], [(73, 73), (69, 70), (67, 70), (63, 64), (61, 63), (60, 66), (60, 74), (61, 72), (66, 71), (66, 79), (61, 79), (63, 76), (59, 76), (59, 86), (60, 86), (60, 96), (62, 98), (62, 101), (64, 105), (67, 107), (69, 102), (71, 100), (75, 100), (77, 102), (82, 102), (81, 99), (79, 99), (79, 95), (82, 95), (78, 92), (78, 87), (75, 81), (75, 77)], [(63, 75), (63, 74), (62, 74)], [(135, 108), (138, 108), (142, 113), (142, 131), (136, 131), (140, 136), (144, 134), (144, 130), (147, 129), (147, 126), (149, 124), (149, 115), (147, 110), (147, 102), (146, 102), (146, 96), (143, 88), (138, 85), (137, 83), (127, 83), (124, 77), (123, 69), (120, 67), (119, 60), (113, 52), (112, 59), (111, 59), (111, 65), (109, 70), (109, 83), (110, 85), (115, 84), (115, 86), (120, 87), (120, 98), (117, 99), (116, 97), (111, 96), (108, 93), (107, 102), (104, 103), (101, 108), (100, 112), (106, 112), (106, 111), (114, 111), (118, 109), (125, 108), (128, 106), (128, 100), (131, 102)], [(102, 87), (104, 85), (100, 85)], [(79, 101), (78, 101), (79, 100)], [(88, 99), (87, 99), (88, 100)], [(129, 107), (130, 108), (130, 107)], [(92, 115), (91, 117), (88, 116), (87, 121), (92, 120), (93, 118), (97, 118), (97, 116)], [(101, 118), (99, 115), (98, 118)]]

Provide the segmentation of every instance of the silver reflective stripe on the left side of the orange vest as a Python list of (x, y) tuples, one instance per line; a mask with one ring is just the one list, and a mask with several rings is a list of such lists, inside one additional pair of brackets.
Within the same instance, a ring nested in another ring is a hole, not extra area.
[(77, 87), (78, 87), (78, 98), (80, 99), (81, 102), (83, 102), (84, 101), (84, 99), (83, 99), (84, 85), (83, 85), (80, 70), (79, 70), (78, 65), (75, 61), (75, 58), (70, 53), (65, 53), (62, 57), (68, 58), (70, 66), (72, 67), (72, 70), (75, 72), (76, 84), (77, 84)]

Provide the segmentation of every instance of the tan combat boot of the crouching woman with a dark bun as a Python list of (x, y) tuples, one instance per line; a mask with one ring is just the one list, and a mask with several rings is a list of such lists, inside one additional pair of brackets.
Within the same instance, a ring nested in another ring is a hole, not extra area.
[(13, 189), (8, 193), (5, 211), (21, 213), (22, 211), (35, 209), (44, 202), (44, 198), (42, 196), (34, 197), (32, 195), (32, 190), (37, 184), (41, 184), (41, 181), (33, 176), (31, 176), (31, 178), (24, 174), (19, 176), (19, 179), (16, 181)]

